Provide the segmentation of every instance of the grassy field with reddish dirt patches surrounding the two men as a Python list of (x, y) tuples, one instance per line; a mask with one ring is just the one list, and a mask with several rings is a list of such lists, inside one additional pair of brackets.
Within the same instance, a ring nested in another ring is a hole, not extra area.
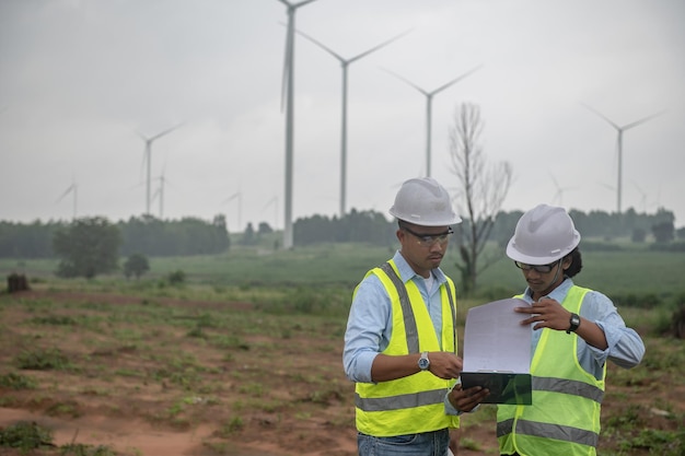
[[(351, 456), (353, 385), (340, 360), (350, 294), (393, 252), (326, 245), (153, 258), (140, 281), (58, 280), (56, 261), (0, 261), (33, 289), (0, 293), (0, 428), (3, 410), (31, 413), (60, 445), (42, 449), (48, 455), (155, 456), (150, 441), (163, 432), (193, 455)], [(685, 454), (685, 342), (664, 334), (685, 295), (685, 255), (593, 252), (583, 260), (579, 284), (629, 303), (620, 313), (647, 344), (640, 366), (609, 365), (600, 454)], [(443, 266), (458, 282), (452, 262)], [(186, 280), (174, 284), (178, 270)], [(480, 284), (460, 300), (460, 325), (468, 307), (522, 290), (509, 260)], [(494, 411), (464, 419), (460, 454), (496, 454)], [(112, 431), (123, 422), (126, 439)], [(15, 431), (8, 424), (3, 433)], [(20, 454), (3, 453), (3, 435), (0, 454)]]

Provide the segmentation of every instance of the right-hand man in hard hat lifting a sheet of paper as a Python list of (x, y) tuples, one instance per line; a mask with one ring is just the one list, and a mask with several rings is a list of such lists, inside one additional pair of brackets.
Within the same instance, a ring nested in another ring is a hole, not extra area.
[(530, 314), (522, 324), (533, 331), (533, 405), (498, 406), (502, 455), (595, 455), (606, 362), (629, 369), (645, 354), (612, 301), (573, 283), (579, 243), (562, 208), (539, 204), (521, 217), (507, 246), (527, 285), (516, 297), (531, 304), (516, 312)]

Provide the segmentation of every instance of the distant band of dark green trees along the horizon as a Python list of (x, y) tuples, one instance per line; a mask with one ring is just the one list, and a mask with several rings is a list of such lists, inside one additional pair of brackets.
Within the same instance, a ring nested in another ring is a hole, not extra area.
[[(673, 212), (659, 209), (653, 214), (638, 213), (634, 209), (626, 212), (608, 213), (603, 211), (581, 212), (569, 211), (577, 229), (583, 237), (596, 237), (611, 241), (616, 237), (630, 237), (634, 242), (645, 242), (652, 236), (658, 243), (667, 243), (675, 237), (685, 237), (684, 229), (677, 232), (674, 227)], [(492, 224), (489, 241), (506, 245), (511, 237), (522, 211), (500, 211)], [(97, 220), (112, 226), (118, 241), (118, 254), (130, 256), (143, 254), (147, 256), (191, 256), (212, 255), (229, 252), (231, 238), (227, 229), (224, 215), (216, 215), (211, 221), (197, 218), (181, 220), (160, 220), (151, 215), (131, 217), (128, 221), (109, 223), (103, 218), (78, 219), (71, 222), (39, 220), (32, 223), (0, 222), (0, 258), (55, 258), (55, 242), (63, 233), (77, 224), (83, 229), (79, 220)], [(88, 224), (85, 224), (88, 226)], [(469, 220), (457, 226), (465, 230)], [(369, 243), (372, 245), (395, 245), (394, 221), (388, 221), (381, 212), (368, 210), (357, 211), (342, 218), (337, 215), (312, 215), (298, 219), (293, 224), (294, 246), (305, 246), (317, 243)], [(85, 230), (88, 232), (88, 230)], [(268, 223), (259, 223), (255, 230), (249, 223), (242, 234), (235, 234), (239, 244), (254, 245), (262, 237), (271, 233)], [(96, 242), (85, 234), (80, 235), (83, 243)], [(78, 236), (77, 236), (78, 237)], [(89, 241), (90, 239), (90, 241)], [(455, 239), (458, 244), (458, 239)], [(278, 248), (278, 246), (275, 246)]]

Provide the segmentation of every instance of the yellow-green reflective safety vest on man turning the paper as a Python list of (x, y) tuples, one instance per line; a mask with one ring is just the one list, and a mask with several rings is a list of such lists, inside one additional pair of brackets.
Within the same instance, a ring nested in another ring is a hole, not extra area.
[[(589, 291), (571, 287), (561, 305), (579, 314)], [(541, 331), (531, 361), (533, 405), (497, 407), (500, 453), (516, 452), (521, 456), (595, 455), (606, 364), (602, 378), (596, 379), (578, 361), (576, 334), (567, 335), (566, 331), (549, 328)]]

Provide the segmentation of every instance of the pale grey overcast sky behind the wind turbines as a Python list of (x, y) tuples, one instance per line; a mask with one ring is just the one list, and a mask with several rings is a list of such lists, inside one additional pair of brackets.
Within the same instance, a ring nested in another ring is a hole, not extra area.
[[(674, 211), (685, 225), (682, 0), (316, 0), (299, 31), (348, 67), (347, 208), (387, 213), (426, 173), (426, 92), (479, 67), (432, 103), (431, 175), (454, 186), (449, 128), (478, 105), (481, 145), (508, 161), (506, 210)], [(283, 226), (278, 0), (0, 0), (0, 220), (126, 220), (146, 211)], [(298, 36), (293, 218), (340, 198), (341, 66)], [(583, 105), (584, 104), (584, 105)], [(160, 208), (160, 202), (163, 207)]]

